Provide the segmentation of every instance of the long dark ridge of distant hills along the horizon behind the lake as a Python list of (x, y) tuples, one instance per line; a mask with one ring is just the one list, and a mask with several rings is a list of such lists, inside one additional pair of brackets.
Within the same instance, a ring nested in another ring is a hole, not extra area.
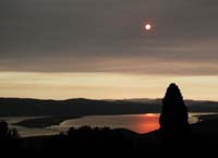
[[(185, 101), (192, 112), (218, 112), (216, 101)], [(84, 98), (66, 100), (41, 100), (25, 98), (0, 98), (0, 117), (19, 116), (93, 116), (160, 112), (161, 99), (92, 100)]]

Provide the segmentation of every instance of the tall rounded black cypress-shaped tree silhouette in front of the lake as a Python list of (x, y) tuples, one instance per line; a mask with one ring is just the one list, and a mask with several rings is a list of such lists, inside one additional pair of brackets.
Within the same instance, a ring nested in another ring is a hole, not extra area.
[(160, 145), (173, 146), (184, 144), (190, 134), (187, 109), (175, 84), (170, 84), (162, 99), (160, 114)]

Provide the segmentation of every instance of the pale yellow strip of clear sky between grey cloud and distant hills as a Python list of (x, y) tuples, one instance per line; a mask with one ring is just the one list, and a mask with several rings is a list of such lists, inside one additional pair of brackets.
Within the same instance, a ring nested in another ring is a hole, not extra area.
[(171, 82), (185, 99), (218, 100), (218, 76), (143, 75), (122, 73), (0, 72), (1, 97), (44, 99), (161, 98)]

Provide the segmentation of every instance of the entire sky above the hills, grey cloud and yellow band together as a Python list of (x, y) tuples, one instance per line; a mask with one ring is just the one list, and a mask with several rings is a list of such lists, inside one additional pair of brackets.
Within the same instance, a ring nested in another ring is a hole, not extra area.
[(185, 98), (218, 100), (217, 8), (217, 0), (1, 0), (0, 96), (158, 98), (175, 82)]

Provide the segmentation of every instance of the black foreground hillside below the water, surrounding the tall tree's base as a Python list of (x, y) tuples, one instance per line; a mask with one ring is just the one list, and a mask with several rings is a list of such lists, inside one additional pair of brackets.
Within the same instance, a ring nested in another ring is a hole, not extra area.
[[(214, 120), (215, 121), (215, 120)], [(207, 120), (192, 126), (192, 135), (189, 144), (177, 144), (171, 148), (161, 148), (159, 145), (159, 132), (137, 134), (124, 129), (111, 130), (108, 127), (90, 129), (83, 126), (70, 129), (66, 134), (51, 136), (22, 137), (19, 139), (0, 141), (1, 153), (8, 155), (22, 154), (22, 156), (57, 156), (66, 157), (213, 157), (218, 148), (217, 133), (211, 133), (213, 122)], [(215, 155), (216, 157), (216, 155)]]

